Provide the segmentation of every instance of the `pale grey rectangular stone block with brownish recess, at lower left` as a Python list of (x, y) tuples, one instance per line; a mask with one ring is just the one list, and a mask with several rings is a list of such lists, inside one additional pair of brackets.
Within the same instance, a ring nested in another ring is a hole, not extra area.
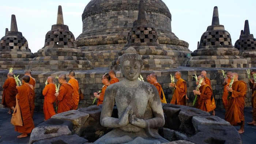
[(58, 125), (36, 127), (31, 132), (29, 144), (33, 144), (35, 141), (50, 139), (61, 135), (71, 135), (71, 131), (69, 131), (68, 126)]

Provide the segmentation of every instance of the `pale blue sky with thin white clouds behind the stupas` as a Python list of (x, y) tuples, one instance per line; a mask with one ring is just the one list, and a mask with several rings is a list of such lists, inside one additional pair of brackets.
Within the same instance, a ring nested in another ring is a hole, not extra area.
[[(27, 39), (31, 52), (44, 47), (45, 35), (57, 21), (58, 5), (62, 6), (64, 24), (75, 38), (82, 33), (82, 13), (90, 0), (12, 0), (0, 5), (0, 38), (5, 28), (10, 31), (11, 15), (16, 16), (18, 31)], [(256, 35), (255, 0), (163, 0), (172, 14), (172, 32), (189, 43), (189, 50), (197, 48), (202, 34), (211, 25), (215, 6), (219, 22), (229, 32), (234, 46), (249, 21), (250, 33)]]

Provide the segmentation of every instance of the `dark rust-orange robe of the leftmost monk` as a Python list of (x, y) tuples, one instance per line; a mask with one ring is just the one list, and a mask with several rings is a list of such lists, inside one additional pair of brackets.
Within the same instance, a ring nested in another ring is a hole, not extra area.
[(16, 105), (16, 82), (14, 78), (7, 78), (3, 85), (3, 98), (2, 98), (2, 104), (5, 107), (11, 108), (12, 106), (15, 107)]

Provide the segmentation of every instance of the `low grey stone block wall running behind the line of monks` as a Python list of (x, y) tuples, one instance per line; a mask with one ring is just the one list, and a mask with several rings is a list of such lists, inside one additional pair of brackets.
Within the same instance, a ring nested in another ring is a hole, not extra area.
[[(162, 85), (163, 91), (165, 93), (165, 97), (167, 102), (169, 103), (173, 96), (173, 87), (170, 87), (170, 74), (174, 75), (176, 71), (181, 71), (182, 78), (187, 81), (188, 86), (188, 93), (187, 96), (188, 106), (192, 106), (193, 103), (193, 90), (196, 87), (195, 79), (192, 78), (192, 75), (199, 75), (202, 70), (207, 71), (207, 77), (211, 79), (212, 90), (215, 97), (215, 102), (217, 109), (223, 109), (222, 105), (222, 93), (223, 93), (223, 86), (222, 82), (224, 80), (221, 69), (217, 68), (196, 68), (196, 67), (179, 67), (177, 69), (170, 69), (170, 70), (161, 70), (161, 71), (142, 71), (141, 75), (146, 80), (148, 74), (155, 72), (158, 76), (158, 82)], [(223, 68), (224, 71), (233, 71), (238, 73), (238, 79), (243, 80), (248, 83), (248, 78), (246, 74), (246, 69), (228, 69)], [(256, 70), (256, 69), (250, 69)], [(94, 70), (84, 70), (84, 71), (75, 71), (75, 78), (78, 79), (80, 82), (80, 87), (84, 94), (84, 100), (79, 102), (78, 108), (84, 108), (93, 105), (94, 96), (93, 93), (99, 91), (102, 88), (101, 78), (102, 75), (107, 73), (109, 70), (107, 68), (96, 68)], [(15, 75), (20, 75), (19, 78), (22, 78), (24, 75), (25, 70), (14, 70)], [(1, 70), (0, 71), (0, 102), (2, 100), (3, 94), (3, 84), (7, 79), (8, 70)], [(52, 71), (52, 72), (33, 72), (32, 77), (36, 79), (36, 89), (35, 89), (35, 111), (42, 112), (43, 111), (43, 103), (44, 103), (44, 96), (42, 96), (42, 90), (45, 87), (45, 81), (49, 76), (59, 76), (60, 74), (66, 74), (68, 77), (68, 71)], [(122, 80), (123, 75), (120, 71), (116, 72), (116, 76)], [(69, 79), (68, 79), (69, 80)], [(177, 81), (177, 80), (175, 80)], [(246, 93), (245, 98), (245, 107), (251, 106), (251, 94), (252, 91), (249, 89), (249, 84), (247, 84), (248, 90)], [(97, 101), (95, 102), (97, 104)], [(3, 105), (0, 104), (2, 108)]]

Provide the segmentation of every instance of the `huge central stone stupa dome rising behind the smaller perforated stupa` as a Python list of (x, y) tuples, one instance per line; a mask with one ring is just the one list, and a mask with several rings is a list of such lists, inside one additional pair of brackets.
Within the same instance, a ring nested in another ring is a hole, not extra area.
[[(127, 43), (127, 34), (137, 20), (140, 0), (91, 0), (82, 14), (83, 32), (78, 48), (95, 67), (108, 67)], [(158, 32), (158, 42), (178, 66), (191, 53), (188, 43), (172, 32), (172, 15), (162, 0), (143, 0), (145, 16)]]

